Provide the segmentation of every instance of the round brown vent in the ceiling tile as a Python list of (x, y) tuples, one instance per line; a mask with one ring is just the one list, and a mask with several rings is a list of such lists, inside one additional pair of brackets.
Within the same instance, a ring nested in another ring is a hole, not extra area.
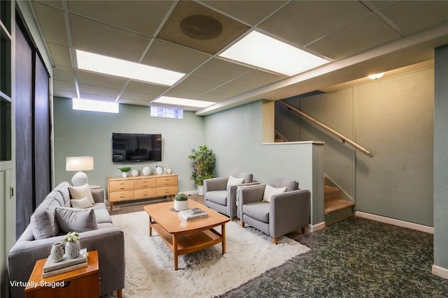
[(219, 36), (223, 25), (208, 15), (190, 15), (181, 21), (181, 31), (190, 38), (207, 40)]

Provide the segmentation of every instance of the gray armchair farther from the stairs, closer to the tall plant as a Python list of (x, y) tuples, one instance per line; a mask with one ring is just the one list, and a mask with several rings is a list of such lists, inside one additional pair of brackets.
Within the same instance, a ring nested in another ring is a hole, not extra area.
[[(253, 174), (234, 173), (232, 177), (244, 179), (242, 184), (258, 184), (253, 182)], [(218, 177), (204, 180), (204, 202), (211, 209), (229, 216), (237, 216), (237, 185), (228, 187), (230, 177)]]

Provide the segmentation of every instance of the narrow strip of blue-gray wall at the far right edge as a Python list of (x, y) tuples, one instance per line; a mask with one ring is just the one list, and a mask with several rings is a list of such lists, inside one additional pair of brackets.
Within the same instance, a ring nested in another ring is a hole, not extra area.
[[(448, 45), (435, 49), (434, 264), (448, 269)], [(446, 275), (447, 272), (445, 272)]]

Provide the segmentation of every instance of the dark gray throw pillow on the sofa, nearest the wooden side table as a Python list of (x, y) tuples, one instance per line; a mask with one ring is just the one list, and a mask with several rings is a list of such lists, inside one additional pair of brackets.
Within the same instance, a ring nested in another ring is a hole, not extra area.
[(92, 208), (74, 209), (69, 207), (57, 207), (55, 215), (59, 229), (64, 232), (85, 232), (97, 230), (97, 218)]

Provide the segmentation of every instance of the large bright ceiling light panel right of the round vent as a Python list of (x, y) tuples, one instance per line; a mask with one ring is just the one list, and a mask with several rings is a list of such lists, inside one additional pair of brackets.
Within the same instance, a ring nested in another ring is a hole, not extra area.
[(329, 62), (257, 31), (249, 33), (219, 56), (283, 75), (297, 75)]

